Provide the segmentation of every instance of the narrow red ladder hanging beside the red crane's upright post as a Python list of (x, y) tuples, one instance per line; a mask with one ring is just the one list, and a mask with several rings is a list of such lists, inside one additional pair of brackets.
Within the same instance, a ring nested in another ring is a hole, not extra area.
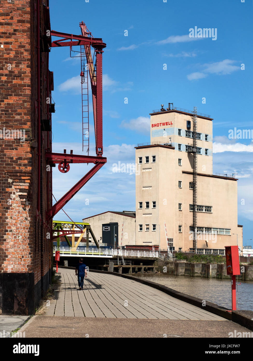
[(89, 95), (88, 95), (88, 64), (84, 45), (81, 48), (81, 84), (82, 84), (82, 122), (83, 122), (83, 150), (89, 155)]

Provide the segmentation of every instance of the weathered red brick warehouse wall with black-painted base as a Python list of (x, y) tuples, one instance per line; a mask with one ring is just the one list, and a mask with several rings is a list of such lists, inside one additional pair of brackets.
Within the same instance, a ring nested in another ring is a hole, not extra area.
[[(48, 0), (8, 1), (0, 2), (0, 312), (29, 314), (51, 280), (52, 244), (46, 237), (51, 224), (45, 219), (52, 205), (52, 172), (45, 164), (51, 131), (43, 130), (44, 119), (50, 124), (46, 98), (53, 90), (46, 36), (50, 20)], [(14, 130), (10, 138), (9, 131)], [(25, 139), (17, 136), (17, 130), (22, 135), (25, 131)]]

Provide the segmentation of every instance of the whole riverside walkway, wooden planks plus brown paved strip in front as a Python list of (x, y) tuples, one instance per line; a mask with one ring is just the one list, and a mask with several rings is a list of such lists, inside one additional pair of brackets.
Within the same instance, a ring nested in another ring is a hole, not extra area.
[(75, 270), (59, 272), (56, 299), (19, 330), (26, 338), (228, 338), (249, 331), (132, 279), (88, 272), (79, 290)]

